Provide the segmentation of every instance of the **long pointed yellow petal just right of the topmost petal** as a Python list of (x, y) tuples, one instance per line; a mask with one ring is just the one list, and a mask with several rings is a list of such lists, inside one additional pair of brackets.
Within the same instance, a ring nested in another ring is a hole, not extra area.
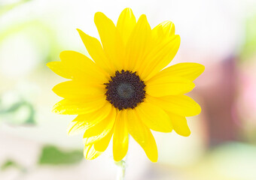
[(147, 17), (142, 14), (138, 23), (133, 28), (130, 38), (126, 44), (126, 60), (124, 68), (137, 71), (139, 74), (144, 68), (145, 55), (151, 46), (151, 27)]

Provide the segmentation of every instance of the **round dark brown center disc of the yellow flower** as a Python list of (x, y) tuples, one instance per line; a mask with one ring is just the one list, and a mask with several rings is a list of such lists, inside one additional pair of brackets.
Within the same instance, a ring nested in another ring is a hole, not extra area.
[(145, 98), (145, 83), (132, 71), (116, 71), (105, 89), (106, 100), (118, 110), (133, 109)]

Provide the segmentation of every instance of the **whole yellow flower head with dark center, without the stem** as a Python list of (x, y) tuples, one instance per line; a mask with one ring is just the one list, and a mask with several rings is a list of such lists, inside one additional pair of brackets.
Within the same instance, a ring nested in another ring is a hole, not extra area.
[(170, 21), (151, 29), (144, 14), (136, 21), (133, 11), (126, 8), (117, 26), (100, 12), (94, 22), (102, 43), (78, 29), (90, 58), (64, 51), (61, 62), (47, 64), (69, 79), (53, 87), (64, 98), (53, 112), (78, 115), (68, 133), (84, 132), (87, 160), (102, 154), (111, 139), (114, 160), (122, 160), (131, 135), (156, 162), (157, 144), (151, 130), (190, 135), (185, 117), (198, 115), (201, 109), (184, 94), (194, 89), (193, 80), (204, 66), (179, 63), (166, 68), (180, 45)]

